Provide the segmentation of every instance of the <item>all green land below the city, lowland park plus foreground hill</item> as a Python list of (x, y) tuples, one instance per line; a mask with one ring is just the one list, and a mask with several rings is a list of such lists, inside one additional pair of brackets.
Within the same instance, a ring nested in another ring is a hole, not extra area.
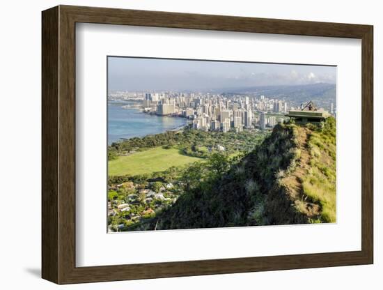
[(336, 221), (335, 119), (320, 125), (279, 123), (269, 135), (210, 134), (185, 130), (166, 133), (168, 143), (153, 135), (112, 145), (118, 157), (109, 161), (109, 227)]

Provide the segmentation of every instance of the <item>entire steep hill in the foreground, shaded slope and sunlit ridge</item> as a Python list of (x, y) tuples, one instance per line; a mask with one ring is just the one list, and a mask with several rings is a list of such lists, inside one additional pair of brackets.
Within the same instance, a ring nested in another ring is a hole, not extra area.
[(335, 152), (332, 118), (321, 127), (276, 125), (214, 182), (199, 180), (135, 229), (335, 222)]

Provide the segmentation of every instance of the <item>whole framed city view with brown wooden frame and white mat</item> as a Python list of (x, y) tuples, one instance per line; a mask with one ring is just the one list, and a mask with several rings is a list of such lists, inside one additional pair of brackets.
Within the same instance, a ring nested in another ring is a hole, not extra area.
[(373, 263), (373, 26), (42, 12), (42, 277)]

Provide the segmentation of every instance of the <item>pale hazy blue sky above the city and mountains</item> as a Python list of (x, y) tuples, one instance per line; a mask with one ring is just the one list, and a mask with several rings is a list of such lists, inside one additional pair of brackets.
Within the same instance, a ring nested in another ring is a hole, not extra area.
[(334, 66), (108, 58), (109, 91), (208, 91), (336, 82)]

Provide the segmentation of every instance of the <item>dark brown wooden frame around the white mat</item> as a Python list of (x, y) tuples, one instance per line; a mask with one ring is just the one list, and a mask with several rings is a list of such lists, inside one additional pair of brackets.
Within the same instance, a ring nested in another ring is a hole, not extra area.
[[(361, 39), (361, 251), (153, 264), (75, 264), (75, 24)], [(57, 284), (373, 264), (373, 26), (56, 6), (42, 12), (42, 278)]]

